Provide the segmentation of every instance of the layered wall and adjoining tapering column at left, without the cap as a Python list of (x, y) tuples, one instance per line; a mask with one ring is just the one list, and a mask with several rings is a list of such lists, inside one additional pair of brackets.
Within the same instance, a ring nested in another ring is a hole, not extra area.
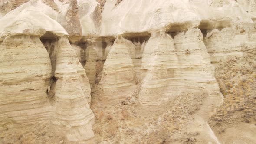
[(67, 38), (59, 38), (51, 59), (35, 36), (7, 36), (1, 49), (1, 125), (49, 120), (69, 141), (94, 136), (89, 80)]

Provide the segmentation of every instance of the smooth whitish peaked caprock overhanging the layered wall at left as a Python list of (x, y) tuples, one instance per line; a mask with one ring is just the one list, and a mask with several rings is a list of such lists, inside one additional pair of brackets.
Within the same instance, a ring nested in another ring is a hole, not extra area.
[[(36, 0), (33, 1), (37, 2)], [(33, 1), (30, 1), (30, 3)], [(0, 37), (20, 34), (40, 37), (46, 32), (56, 36), (68, 35), (58, 22), (30, 5), (30, 3), (23, 4), (1, 18)]]

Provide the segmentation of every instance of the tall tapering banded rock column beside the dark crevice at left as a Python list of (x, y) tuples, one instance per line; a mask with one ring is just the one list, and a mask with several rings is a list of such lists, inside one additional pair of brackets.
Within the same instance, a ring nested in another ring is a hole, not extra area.
[[(94, 115), (90, 109), (90, 85), (85, 70), (66, 37), (59, 38), (54, 48), (56, 115), (53, 124), (66, 131), (69, 141), (86, 141), (94, 134)], [(70, 55), (72, 53), (72, 55)]]

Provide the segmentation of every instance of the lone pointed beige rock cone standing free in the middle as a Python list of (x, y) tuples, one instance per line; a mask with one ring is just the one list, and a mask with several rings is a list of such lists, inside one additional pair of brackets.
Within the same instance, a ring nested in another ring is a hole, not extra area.
[[(130, 52), (135, 46), (118, 36), (108, 53), (98, 84), (98, 97), (101, 99), (124, 99), (136, 88), (136, 75)], [(130, 51), (130, 52), (129, 52)]]

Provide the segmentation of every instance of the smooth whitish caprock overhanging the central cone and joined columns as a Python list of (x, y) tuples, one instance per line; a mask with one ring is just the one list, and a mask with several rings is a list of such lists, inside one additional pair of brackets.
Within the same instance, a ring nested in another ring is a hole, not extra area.
[(188, 0), (123, 0), (117, 7), (115, 2), (105, 3), (101, 35), (168, 30), (170, 27), (174, 31), (185, 30), (198, 26), (201, 20), (191, 10)]

